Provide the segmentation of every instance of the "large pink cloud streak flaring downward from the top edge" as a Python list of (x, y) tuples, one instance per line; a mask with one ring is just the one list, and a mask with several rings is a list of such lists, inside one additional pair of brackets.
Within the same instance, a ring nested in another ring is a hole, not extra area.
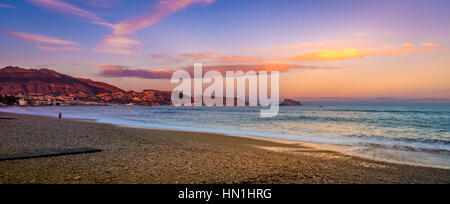
[(214, 0), (158, 0), (149, 14), (112, 25), (113, 33), (103, 39), (93, 50), (110, 54), (138, 55), (141, 53), (142, 42), (133, 38), (138, 30), (152, 26), (194, 3), (213, 2)]

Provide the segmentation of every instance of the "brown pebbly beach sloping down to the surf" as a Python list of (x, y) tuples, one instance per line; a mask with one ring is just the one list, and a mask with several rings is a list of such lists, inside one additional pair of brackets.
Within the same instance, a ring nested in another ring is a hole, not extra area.
[(450, 183), (450, 170), (371, 161), (301, 143), (118, 127), (0, 112), (0, 155), (102, 152), (0, 162), (0, 183)]

